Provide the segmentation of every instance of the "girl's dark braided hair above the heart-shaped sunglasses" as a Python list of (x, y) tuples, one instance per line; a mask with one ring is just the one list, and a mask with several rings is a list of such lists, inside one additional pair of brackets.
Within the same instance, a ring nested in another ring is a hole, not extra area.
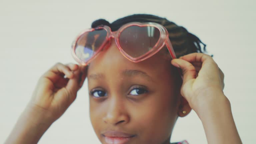
[[(95, 28), (99, 25), (107, 25), (111, 28), (112, 31), (116, 31), (122, 25), (129, 22), (154, 22), (164, 26), (168, 31), (169, 39), (172, 43), (174, 52), (177, 57), (194, 52), (206, 52), (206, 44), (202, 43), (197, 36), (189, 33), (184, 27), (178, 26), (177, 24), (167, 20), (166, 18), (158, 17), (155, 15), (134, 14), (120, 18), (112, 22), (111, 24), (104, 19), (99, 19), (92, 23), (92, 28)], [(204, 46), (203, 51), (201, 48), (201, 44)]]

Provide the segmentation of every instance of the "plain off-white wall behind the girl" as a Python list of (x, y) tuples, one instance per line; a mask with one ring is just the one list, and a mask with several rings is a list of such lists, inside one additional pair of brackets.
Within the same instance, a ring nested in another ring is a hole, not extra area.
[[(134, 13), (166, 17), (207, 44), (225, 73), (224, 92), (243, 143), (255, 143), (255, 1), (0, 0), (0, 143), (25, 108), (38, 78), (56, 62), (75, 61), (70, 46), (91, 22)], [(88, 90), (43, 135), (40, 144), (100, 143), (89, 120)], [(179, 118), (171, 141), (207, 143), (195, 112)]]

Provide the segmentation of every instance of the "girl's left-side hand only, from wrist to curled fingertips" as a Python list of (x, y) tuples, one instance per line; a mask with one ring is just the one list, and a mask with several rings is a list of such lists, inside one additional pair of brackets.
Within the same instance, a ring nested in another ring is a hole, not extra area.
[(38, 80), (30, 109), (44, 115), (44, 122), (53, 123), (76, 99), (87, 75), (86, 67), (57, 63)]

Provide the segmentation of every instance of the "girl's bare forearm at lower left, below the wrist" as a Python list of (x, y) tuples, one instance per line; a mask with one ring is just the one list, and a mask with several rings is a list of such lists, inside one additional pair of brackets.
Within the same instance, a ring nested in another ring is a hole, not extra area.
[(5, 144), (36, 144), (52, 124), (42, 111), (27, 107), (19, 117)]

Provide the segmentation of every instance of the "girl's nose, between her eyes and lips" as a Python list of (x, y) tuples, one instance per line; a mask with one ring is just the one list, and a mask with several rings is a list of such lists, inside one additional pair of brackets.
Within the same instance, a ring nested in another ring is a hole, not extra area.
[(111, 125), (121, 125), (129, 122), (130, 117), (122, 100), (112, 98), (109, 101), (108, 110), (103, 120)]

